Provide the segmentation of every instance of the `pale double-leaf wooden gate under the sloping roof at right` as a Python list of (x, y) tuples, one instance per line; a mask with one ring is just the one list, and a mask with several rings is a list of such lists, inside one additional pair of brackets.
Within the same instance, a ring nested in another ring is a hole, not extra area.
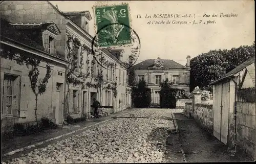
[(229, 114), (229, 82), (215, 85), (214, 136), (227, 145)]

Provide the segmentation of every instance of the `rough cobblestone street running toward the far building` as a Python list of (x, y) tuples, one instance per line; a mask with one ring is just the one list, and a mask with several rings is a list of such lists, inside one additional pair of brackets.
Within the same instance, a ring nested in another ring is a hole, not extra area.
[[(178, 112), (176, 110), (176, 112)], [(175, 129), (172, 109), (140, 109), (126, 118), (82, 131), (44, 148), (12, 158), (7, 163), (116, 163), (174, 162), (180, 155), (169, 153), (166, 142)], [(129, 118), (131, 117), (131, 118)], [(161, 119), (162, 118), (162, 119)], [(177, 136), (175, 136), (177, 137)], [(177, 140), (177, 138), (176, 138)], [(177, 147), (180, 152), (181, 149)], [(182, 161), (182, 159), (179, 159)]]

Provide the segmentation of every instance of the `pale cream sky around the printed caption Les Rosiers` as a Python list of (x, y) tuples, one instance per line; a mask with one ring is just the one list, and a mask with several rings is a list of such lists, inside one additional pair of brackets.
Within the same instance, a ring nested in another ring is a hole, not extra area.
[[(94, 37), (95, 16), (93, 6), (129, 3), (131, 27), (141, 41), (141, 51), (136, 63), (145, 59), (172, 59), (186, 64), (186, 57), (196, 57), (215, 49), (231, 49), (251, 45), (255, 40), (254, 1), (50, 1), (61, 11), (89, 10), (89, 22)], [(237, 17), (220, 17), (220, 14), (237, 14)], [(195, 18), (137, 18), (140, 14), (191, 14)], [(203, 14), (210, 17), (203, 17)], [(217, 14), (217, 17), (211, 17)], [(147, 25), (148, 21), (215, 21), (214, 24), (197, 25)]]

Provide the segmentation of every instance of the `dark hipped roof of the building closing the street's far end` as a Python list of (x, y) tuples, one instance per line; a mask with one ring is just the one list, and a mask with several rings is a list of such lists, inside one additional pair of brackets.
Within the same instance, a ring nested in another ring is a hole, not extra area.
[[(179, 69), (179, 68), (186, 68), (184, 65), (181, 65), (173, 60), (170, 59), (161, 59), (163, 61), (163, 67), (165, 68), (173, 68), (173, 69)], [(146, 59), (136, 65), (133, 66), (133, 68), (148, 68), (153, 67), (155, 64), (155, 59)]]

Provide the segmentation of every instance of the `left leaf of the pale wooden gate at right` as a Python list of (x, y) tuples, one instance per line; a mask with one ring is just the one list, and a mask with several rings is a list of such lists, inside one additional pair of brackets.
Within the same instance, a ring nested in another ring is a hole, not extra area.
[(212, 110), (214, 111), (214, 136), (221, 140), (221, 108), (222, 108), (222, 84), (215, 85), (215, 97)]

